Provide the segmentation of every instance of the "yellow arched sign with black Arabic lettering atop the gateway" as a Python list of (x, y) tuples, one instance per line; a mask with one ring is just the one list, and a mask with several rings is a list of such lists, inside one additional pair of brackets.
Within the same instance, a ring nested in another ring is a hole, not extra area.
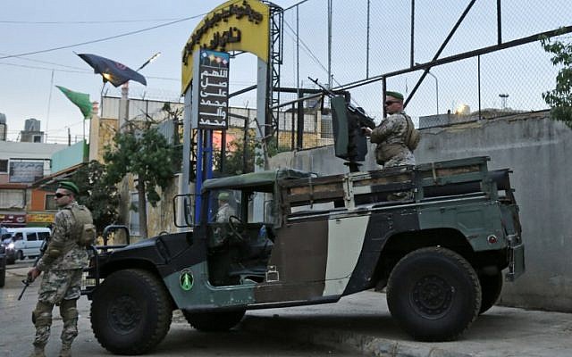
[(207, 13), (182, 50), (182, 92), (195, 75), (193, 64), (199, 49), (246, 51), (268, 62), (269, 19), (270, 7), (260, 0), (229, 0)]

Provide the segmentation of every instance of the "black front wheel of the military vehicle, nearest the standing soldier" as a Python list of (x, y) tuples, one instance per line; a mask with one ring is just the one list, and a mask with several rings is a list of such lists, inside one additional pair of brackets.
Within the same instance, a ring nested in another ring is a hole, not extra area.
[(93, 295), (91, 328), (111, 353), (148, 352), (164, 339), (171, 320), (170, 296), (146, 270), (114, 272)]

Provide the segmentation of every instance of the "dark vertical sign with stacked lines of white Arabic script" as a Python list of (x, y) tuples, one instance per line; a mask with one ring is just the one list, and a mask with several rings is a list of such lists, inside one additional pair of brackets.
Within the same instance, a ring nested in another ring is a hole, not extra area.
[(193, 128), (228, 129), (230, 60), (229, 54), (209, 50), (201, 50), (196, 57)]

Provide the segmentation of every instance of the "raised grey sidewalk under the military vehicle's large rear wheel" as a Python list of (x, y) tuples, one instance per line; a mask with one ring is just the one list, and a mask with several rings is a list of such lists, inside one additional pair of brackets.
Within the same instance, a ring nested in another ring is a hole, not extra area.
[(241, 328), (368, 356), (572, 356), (572, 314), (494, 306), (458, 341), (412, 340), (391, 319), (385, 295), (366, 291), (339, 303), (248, 311)]

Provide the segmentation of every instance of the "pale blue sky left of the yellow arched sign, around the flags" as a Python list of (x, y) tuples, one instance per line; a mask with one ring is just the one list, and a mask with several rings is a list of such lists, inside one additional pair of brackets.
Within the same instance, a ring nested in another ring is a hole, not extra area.
[[(50, 137), (83, 134), (80, 110), (55, 86), (88, 93), (99, 101), (101, 76), (93, 73), (75, 53), (98, 54), (137, 69), (153, 54), (161, 55), (141, 73), (147, 87), (130, 82), (130, 93), (178, 99), (181, 92), (181, 50), (193, 29), (207, 12), (223, 1), (7, 1), (0, 4), (0, 57), (27, 54), (55, 47), (115, 37), (184, 18), (169, 26), (141, 31), (92, 44), (71, 46), (40, 54), (0, 59), (0, 112), (6, 115), (8, 138), (15, 140), (24, 120), (36, 118)], [(295, 1), (274, 2), (282, 7)], [(55, 70), (52, 73), (52, 70)], [(53, 74), (53, 80), (52, 80)], [(245, 80), (240, 85), (246, 87)], [(119, 88), (105, 86), (108, 95), (120, 95)]]

